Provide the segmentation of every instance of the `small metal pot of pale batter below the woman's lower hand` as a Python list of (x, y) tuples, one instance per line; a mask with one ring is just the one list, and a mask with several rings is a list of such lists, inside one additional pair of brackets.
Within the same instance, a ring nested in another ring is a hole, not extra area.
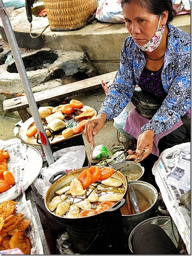
[[(130, 164), (130, 165), (128, 165)], [(117, 166), (117, 167), (116, 167)], [(123, 173), (124, 176), (127, 176), (129, 175), (130, 176), (130, 171), (133, 169), (133, 170), (137, 170), (140, 172), (140, 177), (137, 177), (137, 178), (134, 178), (134, 180), (140, 180), (141, 177), (143, 176), (144, 174), (144, 167), (141, 166), (140, 163), (135, 163), (133, 161), (124, 161), (123, 163), (121, 164), (118, 164), (118, 163), (115, 163), (115, 164), (111, 164), (111, 167), (114, 168), (114, 169), (119, 169), (121, 168), (119, 171), (121, 173)], [(132, 174), (134, 175), (134, 174)], [(128, 180), (133, 180), (133, 179), (129, 179)]]

